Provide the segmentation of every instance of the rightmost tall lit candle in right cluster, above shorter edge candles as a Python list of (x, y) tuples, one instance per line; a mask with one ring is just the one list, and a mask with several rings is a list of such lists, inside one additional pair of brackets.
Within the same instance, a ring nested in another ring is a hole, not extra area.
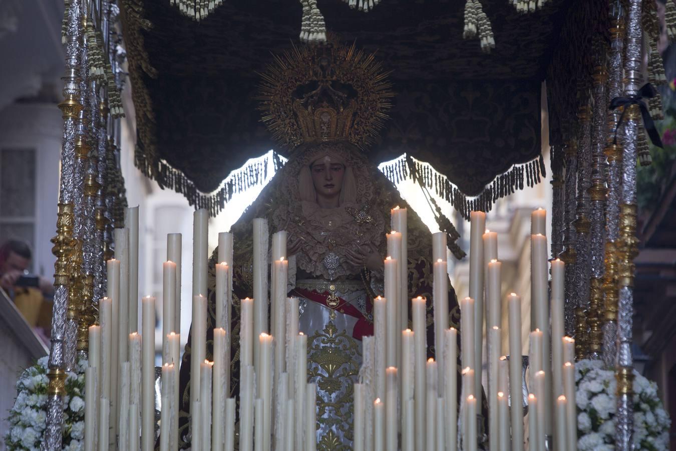
[[(558, 258), (552, 261), (552, 368), (563, 366), (563, 292), (565, 264)], [(560, 371), (552, 371), (552, 389), (554, 396), (563, 393), (563, 381)]]

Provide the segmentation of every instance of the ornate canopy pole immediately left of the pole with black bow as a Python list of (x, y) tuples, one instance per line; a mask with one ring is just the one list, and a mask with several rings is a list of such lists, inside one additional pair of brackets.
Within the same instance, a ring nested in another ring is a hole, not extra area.
[[(610, 26), (610, 53), (608, 55), (608, 99), (623, 93), (622, 57), (625, 42), (625, 22), (618, 4), (612, 11)], [(608, 114), (608, 138), (604, 153), (608, 158), (608, 194), (606, 195), (606, 252), (604, 275), (603, 360), (612, 368), (617, 357), (617, 255), (615, 243), (619, 233), (619, 195), (622, 171), (623, 134), (615, 133), (621, 112)]]

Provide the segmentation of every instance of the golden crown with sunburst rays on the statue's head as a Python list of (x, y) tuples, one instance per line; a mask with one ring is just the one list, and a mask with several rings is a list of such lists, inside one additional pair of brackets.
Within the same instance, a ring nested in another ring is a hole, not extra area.
[(354, 44), (293, 46), (262, 74), (263, 122), (288, 150), (337, 140), (365, 149), (391, 106), (386, 76), (374, 55)]

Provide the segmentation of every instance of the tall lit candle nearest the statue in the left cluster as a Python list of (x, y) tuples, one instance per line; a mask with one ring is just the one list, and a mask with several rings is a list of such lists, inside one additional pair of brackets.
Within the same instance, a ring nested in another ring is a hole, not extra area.
[(287, 353), (287, 275), (289, 274), (288, 260), (274, 260), (272, 262), (274, 277), (272, 278), (272, 319), (274, 322), (274, 377), (286, 371)]

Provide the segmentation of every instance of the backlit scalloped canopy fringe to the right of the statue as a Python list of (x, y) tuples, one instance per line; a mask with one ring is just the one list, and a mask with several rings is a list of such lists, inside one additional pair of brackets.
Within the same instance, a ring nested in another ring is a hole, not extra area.
[(381, 164), (379, 169), (395, 185), (406, 179), (419, 182), (423, 187), (449, 202), (466, 220), (469, 220), (470, 212), (473, 210), (489, 212), (498, 199), (514, 193), (517, 189), (523, 189), (524, 185), (533, 187), (540, 183), (542, 177), (546, 176), (544, 159), (540, 155), (529, 162), (515, 164), (510, 170), (493, 179), (493, 182), (486, 185), (481, 193), (468, 196), (426, 162), (406, 155)]

